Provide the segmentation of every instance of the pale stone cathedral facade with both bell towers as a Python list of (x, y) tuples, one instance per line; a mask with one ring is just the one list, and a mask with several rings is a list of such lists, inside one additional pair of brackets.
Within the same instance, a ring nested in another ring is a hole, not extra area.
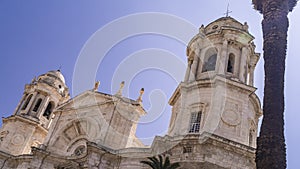
[(147, 169), (162, 154), (181, 169), (254, 169), (260, 101), (253, 86), (260, 55), (247, 23), (222, 17), (201, 26), (187, 46), (183, 81), (169, 100), (165, 136), (145, 146), (135, 136), (147, 112), (133, 100), (91, 90), (70, 98), (62, 73), (25, 85), (15, 112), (3, 118), (0, 168)]

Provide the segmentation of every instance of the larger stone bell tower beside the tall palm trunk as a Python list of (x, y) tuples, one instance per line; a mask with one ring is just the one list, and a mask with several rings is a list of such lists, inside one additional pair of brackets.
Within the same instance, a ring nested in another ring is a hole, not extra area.
[(222, 17), (187, 46), (184, 82), (169, 100), (173, 106), (168, 135), (217, 136), (256, 147), (260, 101), (254, 69), (260, 54), (247, 23)]

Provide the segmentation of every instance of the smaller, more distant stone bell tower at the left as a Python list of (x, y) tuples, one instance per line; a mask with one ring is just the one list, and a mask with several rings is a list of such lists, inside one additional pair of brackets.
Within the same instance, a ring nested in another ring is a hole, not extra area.
[(25, 85), (12, 116), (3, 118), (0, 150), (13, 155), (29, 154), (43, 143), (53, 119), (53, 110), (70, 98), (60, 70), (49, 71)]

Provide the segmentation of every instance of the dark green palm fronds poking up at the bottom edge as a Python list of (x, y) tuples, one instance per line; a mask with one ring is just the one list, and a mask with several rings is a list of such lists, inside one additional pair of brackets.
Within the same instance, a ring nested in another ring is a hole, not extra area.
[(170, 163), (170, 159), (167, 156), (165, 161), (161, 155), (157, 157), (148, 157), (150, 161), (141, 161), (141, 163), (150, 166), (152, 169), (176, 169), (180, 167), (179, 163)]

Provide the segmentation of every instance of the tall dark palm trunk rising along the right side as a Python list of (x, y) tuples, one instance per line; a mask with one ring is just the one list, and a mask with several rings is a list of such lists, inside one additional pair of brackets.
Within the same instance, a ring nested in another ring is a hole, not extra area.
[(263, 14), (265, 88), (264, 118), (257, 138), (258, 169), (286, 168), (284, 138), (284, 72), (287, 48), (288, 13), (297, 0), (252, 0), (254, 8)]

